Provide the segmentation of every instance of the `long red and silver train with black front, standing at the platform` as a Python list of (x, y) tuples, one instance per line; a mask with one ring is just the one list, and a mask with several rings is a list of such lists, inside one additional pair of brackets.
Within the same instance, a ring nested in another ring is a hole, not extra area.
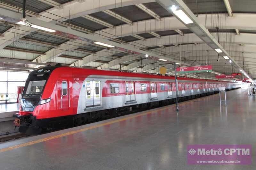
[[(178, 78), (179, 100), (213, 94), (240, 84)], [(46, 66), (31, 72), (20, 100), (15, 125), (20, 132), (85, 123), (104, 116), (174, 103), (174, 77), (121, 71)]]

